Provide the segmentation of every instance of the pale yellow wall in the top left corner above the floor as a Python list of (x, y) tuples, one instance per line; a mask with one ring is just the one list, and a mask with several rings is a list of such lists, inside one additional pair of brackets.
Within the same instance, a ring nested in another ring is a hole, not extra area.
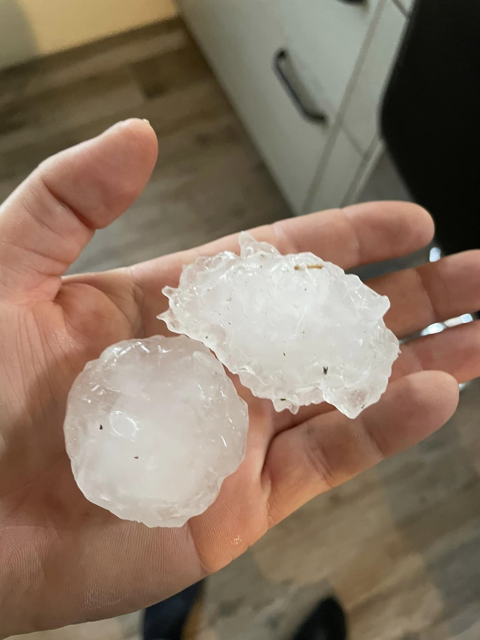
[(0, 0), (0, 68), (176, 13), (173, 0)]

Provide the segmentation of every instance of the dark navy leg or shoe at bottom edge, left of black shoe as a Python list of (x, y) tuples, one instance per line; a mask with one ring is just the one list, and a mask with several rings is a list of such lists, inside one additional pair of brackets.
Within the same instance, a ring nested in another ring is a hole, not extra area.
[(202, 591), (203, 580), (177, 595), (145, 609), (143, 640), (180, 640), (193, 605)]

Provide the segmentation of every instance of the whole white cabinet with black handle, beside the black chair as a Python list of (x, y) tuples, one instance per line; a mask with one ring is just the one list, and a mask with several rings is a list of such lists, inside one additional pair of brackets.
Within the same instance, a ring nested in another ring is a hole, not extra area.
[[(394, 0), (178, 4), (292, 211), (340, 205), (355, 191), (351, 182), (376, 134), (381, 86), (404, 21)], [(280, 81), (273, 67), (281, 50), (301, 104), (326, 122), (302, 115)]]

